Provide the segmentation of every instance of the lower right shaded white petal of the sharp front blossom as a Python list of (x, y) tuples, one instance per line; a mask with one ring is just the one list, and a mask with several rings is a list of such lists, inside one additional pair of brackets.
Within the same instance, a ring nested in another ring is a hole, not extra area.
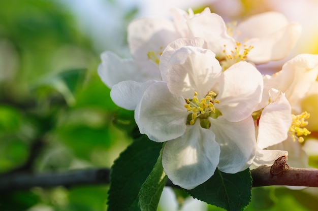
[(224, 117), (210, 118), (210, 129), (215, 134), (221, 153), (218, 169), (237, 173), (248, 168), (256, 151), (256, 138), (252, 117), (240, 122), (229, 122)]

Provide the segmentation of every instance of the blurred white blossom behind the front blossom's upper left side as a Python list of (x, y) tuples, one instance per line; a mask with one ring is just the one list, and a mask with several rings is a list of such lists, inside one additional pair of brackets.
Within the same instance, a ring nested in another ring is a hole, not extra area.
[(180, 35), (172, 21), (164, 18), (137, 19), (128, 27), (128, 43), (132, 58), (121, 59), (112, 52), (103, 52), (98, 74), (110, 88), (127, 80), (161, 80), (160, 55), (170, 42), (178, 38)]

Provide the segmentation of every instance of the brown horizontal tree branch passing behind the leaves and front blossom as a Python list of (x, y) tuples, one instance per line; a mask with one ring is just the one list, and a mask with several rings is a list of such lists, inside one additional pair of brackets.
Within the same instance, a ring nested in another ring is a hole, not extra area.
[[(260, 166), (251, 170), (252, 187), (285, 185), (318, 187), (318, 169), (291, 168), (286, 157), (278, 158), (272, 166)], [(32, 187), (50, 188), (55, 186), (107, 185), (110, 169), (86, 169), (64, 173), (46, 174), (4, 174), (0, 176), (0, 192), (29, 189)], [(177, 187), (170, 180), (166, 186)]]

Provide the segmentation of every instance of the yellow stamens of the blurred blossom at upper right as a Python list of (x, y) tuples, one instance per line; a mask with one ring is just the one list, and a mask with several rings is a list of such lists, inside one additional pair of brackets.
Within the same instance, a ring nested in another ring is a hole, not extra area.
[[(226, 46), (224, 46), (226, 47)], [(223, 50), (224, 54), (224, 59), (220, 61), (220, 65), (222, 67), (222, 71), (226, 71), (230, 66), (233, 64), (240, 62), (240, 61), (245, 61), (247, 58), (247, 54), (250, 50), (253, 49), (253, 46), (248, 46), (243, 45), (243, 52), (241, 49), (242, 45), (239, 42), (236, 42), (234, 50), (231, 51), (230, 54), (227, 54), (226, 50)]]

